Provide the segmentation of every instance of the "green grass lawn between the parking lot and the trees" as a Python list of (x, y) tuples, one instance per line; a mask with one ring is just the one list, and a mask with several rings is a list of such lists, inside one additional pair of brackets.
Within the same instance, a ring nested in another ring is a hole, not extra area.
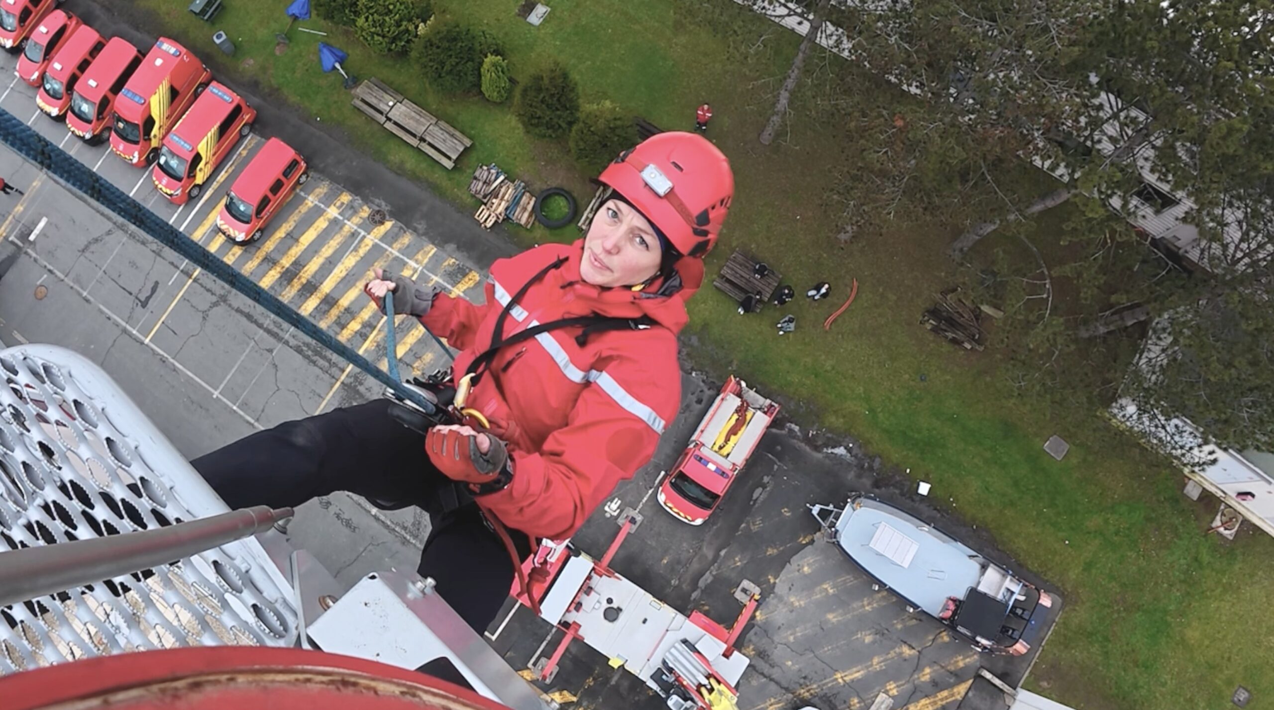
[[(769, 148), (755, 140), (796, 37), (748, 18), (743, 34), (754, 48), (731, 50), (720, 32), (687, 22), (679, 1), (552, 0), (539, 28), (516, 17), (512, 1), (434, 5), (499, 37), (515, 76), (561, 60), (585, 101), (609, 98), (665, 129), (692, 126), (694, 107), (712, 102), (710, 136), (731, 158), (738, 199), (710, 270), (741, 247), (781, 270), (798, 292), (824, 279), (834, 291), (827, 301), (798, 298), (781, 312), (768, 307), (749, 317), (706, 291), (692, 303), (692, 356), (719, 375), (735, 371), (778, 394), (799, 422), (852, 433), (891, 465), (910, 468), (956, 515), (1059, 584), (1069, 607), (1028, 685), (1084, 709), (1222, 707), (1238, 685), (1257, 699), (1274, 695), (1274, 618), (1265, 613), (1274, 539), (1243, 534), (1227, 544), (1204, 537), (1213, 504), (1186, 500), (1182, 477), (1164, 460), (1094, 412), (1017, 396), (996, 353), (961, 352), (917, 325), (933, 294), (956, 283), (943, 255), (954, 235), (912, 218), (893, 233), (837, 242), (824, 205), (828, 176), (845, 166), (836, 126), (812, 119), (799, 93), (790, 133)], [(349, 106), (339, 76), (321, 74), (315, 37), (293, 29), (290, 47), (275, 56), (283, 0), (227, 1), (217, 25), (238, 28), (231, 32), (238, 54), (228, 60), (185, 3), (135, 4), (153, 10), (155, 29), (187, 42), (222, 78), (255, 82), (339, 126), (372, 157), (466, 209), (476, 208), (465, 191), (473, 168), (492, 161), (535, 189), (563, 185), (581, 203), (591, 194), (564, 145), (529, 139), (507, 106), (438, 96), (405, 60), (372, 55), (321, 20), (304, 23), (333, 33), (330, 41), (350, 54), (349, 70), (378, 76), (474, 139), (450, 172), (406, 148)], [(865, 79), (861, 101), (891, 102), (889, 91)], [(1060, 218), (1045, 219), (1037, 243), (1049, 238), (1050, 219)], [(510, 231), (524, 243), (577, 235), (573, 227)], [(978, 250), (1017, 249), (998, 238)], [(1049, 247), (1041, 243), (1045, 254)], [(857, 298), (824, 331), (823, 319), (847, 296), (851, 278), (860, 284)], [(773, 324), (786, 312), (798, 330), (777, 338)], [(1041, 449), (1054, 433), (1071, 444), (1061, 463)]]

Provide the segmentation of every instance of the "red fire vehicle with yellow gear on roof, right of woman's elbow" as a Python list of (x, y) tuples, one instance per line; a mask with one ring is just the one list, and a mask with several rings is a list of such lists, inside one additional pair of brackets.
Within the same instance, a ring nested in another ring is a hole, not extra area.
[(659, 505), (691, 525), (702, 525), (777, 416), (778, 404), (733, 375), (726, 379), (689, 446), (664, 478)]

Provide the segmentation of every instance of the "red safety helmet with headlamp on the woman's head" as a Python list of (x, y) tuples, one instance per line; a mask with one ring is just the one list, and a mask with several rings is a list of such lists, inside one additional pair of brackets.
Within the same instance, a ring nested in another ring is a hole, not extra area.
[(693, 133), (655, 134), (598, 177), (624, 196), (685, 256), (703, 257), (734, 198), (730, 161)]

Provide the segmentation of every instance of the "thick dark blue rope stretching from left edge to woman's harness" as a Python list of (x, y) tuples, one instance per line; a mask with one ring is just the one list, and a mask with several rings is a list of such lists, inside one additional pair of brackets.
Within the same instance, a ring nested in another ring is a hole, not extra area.
[[(229, 286), (238, 293), (242, 293), (254, 303), (260, 305), (279, 320), (294, 328), (298, 333), (311, 338), (320, 345), (331, 351), (339, 358), (371, 375), (377, 381), (390, 388), (400, 398), (422, 405), (426, 412), (432, 412), (434, 409), (434, 407), (424, 400), (419, 393), (405, 386), (399, 379), (396, 362), (397, 353), (392, 339), (390, 339), (390, 354), (385, 358), (386, 362), (390, 363), (390, 373), (386, 373), (383, 370), (376, 367), (376, 365), (359, 354), (355, 349), (338, 340), (331, 333), (318, 328), (317, 324), (297, 312), (276, 296), (261, 288), (260, 284), (254, 282), (247, 275), (240, 273), (225, 261), (222, 261), (222, 259), (215, 254), (208, 251), (199, 242), (161, 219), (159, 215), (143, 206), (110, 181), (89, 170), (88, 166), (70, 157), (68, 153), (27, 126), (23, 121), (4, 110), (0, 110), (0, 141), (5, 143), (15, 153), (25, 156), (27, 159), (56, 176), (66, 185), (75, 187), (90, 200), (113, 212), (121, 219), (139, 228), (157, 242), (176, 251), (195, 266), (199, 266), (205, 273), (211, 274), (214, 278)], [(389, 298), (386, 298), (386, 303), (389, 303)], [(392, 308), (390, 312), (392, 312)], [(392, 338), (392, 317), (389, 319), (389, 329), (390, 338)], [(448, 357), (451, 356), (450, 352), (447, 354)]]

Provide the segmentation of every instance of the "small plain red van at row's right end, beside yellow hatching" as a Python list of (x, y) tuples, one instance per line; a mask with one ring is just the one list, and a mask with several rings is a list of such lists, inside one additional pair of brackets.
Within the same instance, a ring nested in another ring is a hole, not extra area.
[(225, 194), (217, 231), (236, 243), (260, 240), (270, 218), (310, 180), (306, 167), (306, 159), (287, 143), (278, 138), (265, 141)]

